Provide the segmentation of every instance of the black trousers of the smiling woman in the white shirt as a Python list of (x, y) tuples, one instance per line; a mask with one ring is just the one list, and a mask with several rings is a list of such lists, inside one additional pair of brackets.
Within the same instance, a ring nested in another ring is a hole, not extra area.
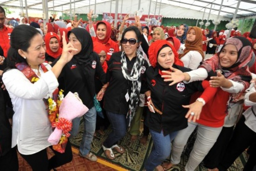
[[(52, 149), (52, 146), (50, 146), (50, 148)], [(52, 156), (50, 159), (48, 159), (47, 157), (46, 148), (35, 154), (21, 154), (21, 156), (28, 162), (33, 171), (51, 170), (72, 161), (73, 155), (69, 141), (67, 143), (65, 153), (59, 153), (53, 149), (52, 151), (55, 155)]]

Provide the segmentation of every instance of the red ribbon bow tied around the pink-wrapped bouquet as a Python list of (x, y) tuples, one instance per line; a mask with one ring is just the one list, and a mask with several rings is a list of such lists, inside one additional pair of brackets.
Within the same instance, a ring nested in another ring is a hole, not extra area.
[(52, 127), (56, 127), (57, 129), (61, 129), (66, 137), (70, 136), (69, 131), (72, 129), (72, 122), (67, 119), (60, 117), (57, 122), (52, 122)]

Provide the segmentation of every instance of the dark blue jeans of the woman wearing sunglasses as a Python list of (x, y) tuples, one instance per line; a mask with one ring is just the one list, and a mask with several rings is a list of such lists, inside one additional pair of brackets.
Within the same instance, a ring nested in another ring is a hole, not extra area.
[(112, 132), (103, 143), (106, 148), (111, 148), (117, 144), (118, 140), (121, 140), (126, 134), (126, 117), (123, 114), (112, 113), (106, 111), (109, 118), (109, 122), (113, 128)]

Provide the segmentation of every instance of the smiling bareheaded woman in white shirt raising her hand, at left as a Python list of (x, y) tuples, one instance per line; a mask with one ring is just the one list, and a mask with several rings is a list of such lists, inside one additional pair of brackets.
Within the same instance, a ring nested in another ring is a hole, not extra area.
[[(12, 147), (17, 145), (21, 156), (33, 170), (51, 170), (72, 160), (72, 151), (67, 141), (65, 153), (53, 150), (55, 155), (48, 160), (47, 141), (52, 133), (43, 101), (58, 96), (58, 81), (64, 65), (73, 57), (72, 45), (64, 39), (63, 53), (54, 67), (45, 63), (45, 43), (38, 30), (32, 26), (19, 25), (10, 36), (8, 67), (3, 82), (13, 103)], [(29, 146), (29, 148), (28, 148)]]

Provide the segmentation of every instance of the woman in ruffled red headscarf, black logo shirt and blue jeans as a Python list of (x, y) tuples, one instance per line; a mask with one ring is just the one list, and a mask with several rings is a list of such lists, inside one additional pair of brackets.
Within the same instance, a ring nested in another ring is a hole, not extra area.
[[(171, 141), (179, 130), (188, 126), (186, 117), (191, 111), (197, 114), (201, 112), (203, 105), (200, 101), (189, 105), (192, 93), (204, 91), (204, 89), (213, 92), (213, 88), (209, 87), (208, 81), (188, 84), (180, 82), (167, 86), (170, 82), (164, 82), (163, 71), (170, 70), (171, 67), (183, 71), (190, 70), (181, 66), (183, 64), (178, 53), (168, 41), (152, 42), (148, 55), (151, 66), (146, 70), (148, 91), (145, 94), (150, 112), (145, 122), (150, 129), (154, 147), (147, 158), (145, 169), (150, 171), (155, 168), (163, 170), (160, 164), (170, 155)], [(209, 98), (205, 93), (200, 97), (206, 101)], [(182, 107), (182, 105), (186, 106)]]

